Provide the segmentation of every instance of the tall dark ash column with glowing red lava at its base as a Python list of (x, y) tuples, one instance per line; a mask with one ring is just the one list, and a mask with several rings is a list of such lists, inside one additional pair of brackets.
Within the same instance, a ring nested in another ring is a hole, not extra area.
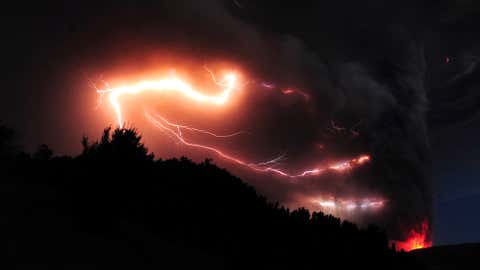
[[(388, 198), (383, 223), (397, 248), (431, 245), (432, 182), (426, 127), (427, 98), (423, 48), (405, 30), (394, 29), (386, 57), (374, 72), (347, 69), (342, 78), (364, 76), (375, 113), (365, 132), (375, 160), (372, 177)], [(368, 74), (368, 75), (367, 75)], [(345, 79), (345, 87), (362, 87)], [(382, 102), (383, 104), (378, 104)]]

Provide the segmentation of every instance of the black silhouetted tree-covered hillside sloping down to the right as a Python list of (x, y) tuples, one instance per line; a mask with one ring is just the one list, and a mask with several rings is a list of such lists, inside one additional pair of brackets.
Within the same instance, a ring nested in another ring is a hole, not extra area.
[[(290, 211), (210, 161), (154, 160), (133, 130), (77, 157), (3, 155), (2, 264), (21, 269), (417, 269), (376, 227)], [(359, 268), (360, 267), (360, 268)]]

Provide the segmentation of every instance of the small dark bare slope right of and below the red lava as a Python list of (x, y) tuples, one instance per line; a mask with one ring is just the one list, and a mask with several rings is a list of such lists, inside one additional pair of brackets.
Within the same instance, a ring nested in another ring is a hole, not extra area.
[(480, 269), (480, 244), (438, 246), (412, 251), (426, 269)]

